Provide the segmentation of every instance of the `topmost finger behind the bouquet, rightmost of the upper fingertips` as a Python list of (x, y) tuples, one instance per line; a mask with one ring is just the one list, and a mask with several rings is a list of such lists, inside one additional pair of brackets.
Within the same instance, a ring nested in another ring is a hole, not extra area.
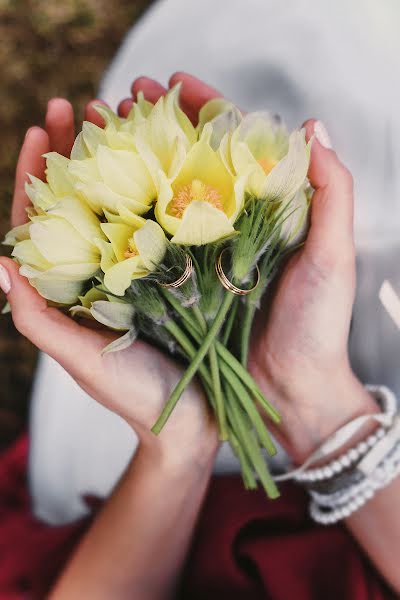
[(222, 97), (222, 94), (216, 89), (188, 73), (174, 73), (169, 80), (170, 88), (177, 83), (182, 84), (179, 97), (182, 109), (195, 124), (201, 107), (209, 100)]

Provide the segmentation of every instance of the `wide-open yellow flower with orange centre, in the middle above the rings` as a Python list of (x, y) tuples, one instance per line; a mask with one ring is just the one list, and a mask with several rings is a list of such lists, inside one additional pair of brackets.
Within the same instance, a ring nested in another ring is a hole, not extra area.
[(235, 233), (245, 179), (232, 177), (211, 148), (211, 135), (207, 124), (172, 181), (159, 172), (155, 215), (173, 243), (200, 246)]

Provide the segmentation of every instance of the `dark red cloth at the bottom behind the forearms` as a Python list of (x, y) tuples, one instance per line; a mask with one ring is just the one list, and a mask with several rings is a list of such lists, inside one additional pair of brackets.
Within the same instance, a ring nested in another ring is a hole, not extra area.
[[(49, 527), (30, 513), (28, 439), (0, 459), (0, 599), (44, 598), (90, 519)], [(182, 600), (386, 600), (393, 598), (342, 527), (307, 516), (293, 486), (266, 502), (238, 477), (210, 486), (190, 552)], [(136, 599), (135, 599), (136, 600)], [(140, 599), (137, 599), (140, 600)]]

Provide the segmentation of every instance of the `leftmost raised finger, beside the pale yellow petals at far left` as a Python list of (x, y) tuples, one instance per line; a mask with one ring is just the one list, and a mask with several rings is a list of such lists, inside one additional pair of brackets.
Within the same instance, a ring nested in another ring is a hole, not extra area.
[(11, 225), (16, 227), (28, 221), (26, 208), (30, 200), (25, 192), (25, 183), (29, 180), (27, 173), (44, 178), (46, 162), (43, 154), (50, 151), (49, 136), (41, 127), (28, 129), (19, 154), (15, 174), (14, 197), (11, 208)]

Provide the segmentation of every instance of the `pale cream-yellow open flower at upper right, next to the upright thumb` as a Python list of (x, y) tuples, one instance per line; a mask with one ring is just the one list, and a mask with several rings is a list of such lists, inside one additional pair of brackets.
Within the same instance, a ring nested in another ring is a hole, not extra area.
[(246, 115), (221, 143), (227, 168), (248, 176), (246, 191), (279, 203), (291, 200), (304, 184), (310, 150), (304, 130), (289, 136), (280, 120), (266, 113)]

